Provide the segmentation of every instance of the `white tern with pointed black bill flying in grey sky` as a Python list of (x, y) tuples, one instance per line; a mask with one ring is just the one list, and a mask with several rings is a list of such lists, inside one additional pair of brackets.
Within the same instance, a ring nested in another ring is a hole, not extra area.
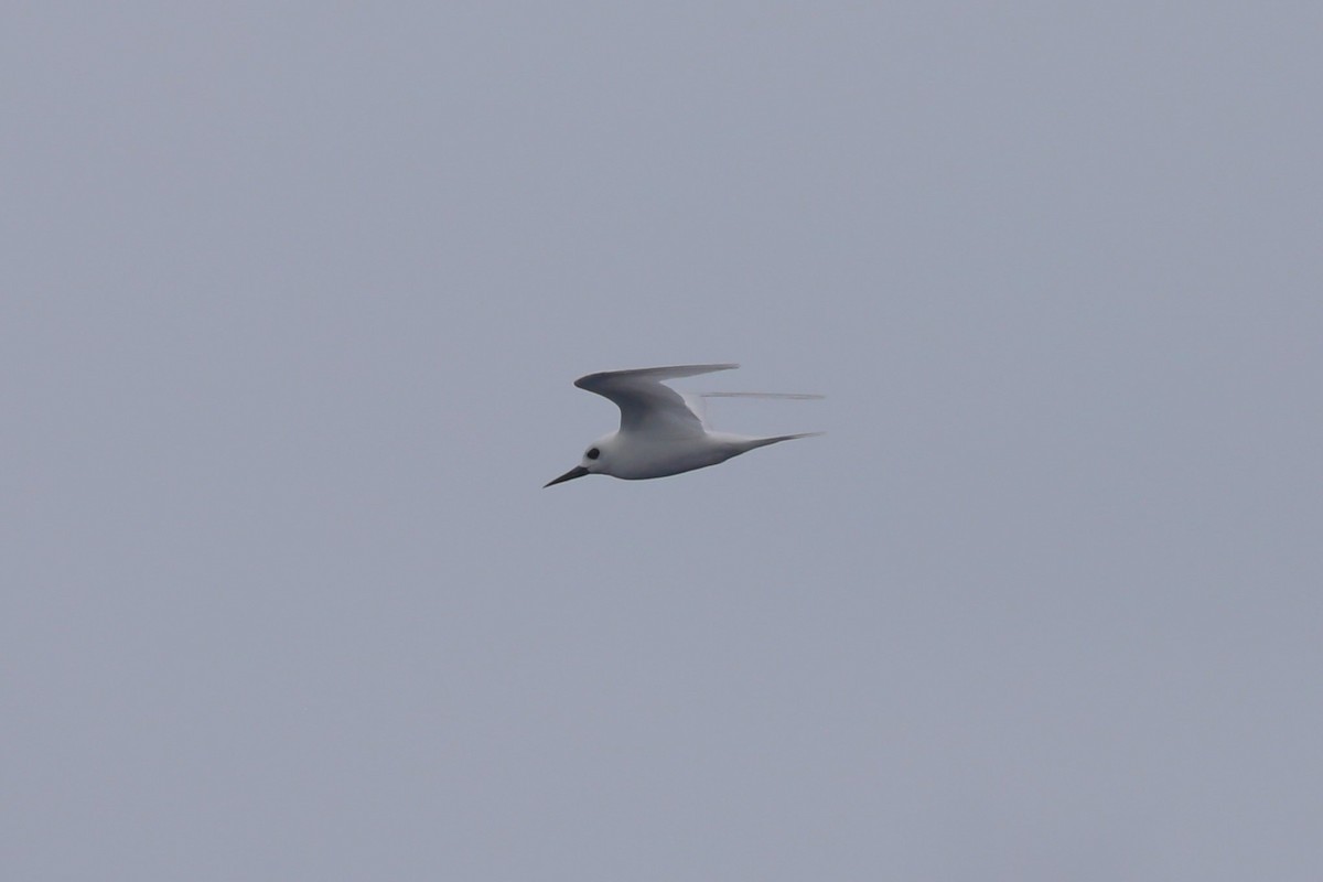
[(585, 475), (610, 475), (626, 480), (665, 477), (695, 468), (724, 463), (746, 454), (795, 438), (822, 435), (800, 432), (773, 438), (750, 438), (714, 432), (704, 417), (704, 398), (822, 398), (778, 393), (679, 393), (663, 380), (693, 377), (740, 365), (672, 365), (607, 370), (579, 377), (574, 385), (610, 398), (620, 409), (620, 428), (593, 442), (578, 465), (544, 485), (560, 484)]

